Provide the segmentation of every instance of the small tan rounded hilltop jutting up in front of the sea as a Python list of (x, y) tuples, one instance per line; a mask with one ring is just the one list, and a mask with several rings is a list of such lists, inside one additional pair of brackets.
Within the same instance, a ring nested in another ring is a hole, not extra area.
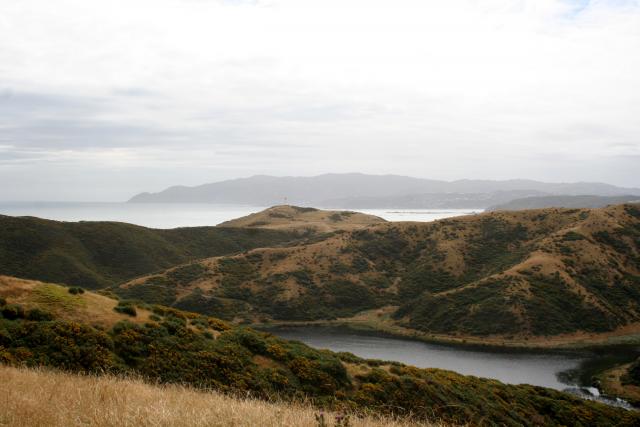
[(271, 230), (310, 230), (333, 232), (357, 230), (386, 221), (373, 215), (350, 211), (327, 211), (298, 206), (274, 206), (242, 218), (218, 224), (218, 227), (268, 228)]

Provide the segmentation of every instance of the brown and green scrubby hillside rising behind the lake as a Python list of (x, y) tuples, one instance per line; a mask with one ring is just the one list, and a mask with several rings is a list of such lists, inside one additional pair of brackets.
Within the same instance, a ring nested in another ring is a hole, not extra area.
[(637, 205), (496, 212), (210, 258), (115, 291), (235, 320), (381, 309), (425, 334), (578, 340), (640, 322), (639, 250)]

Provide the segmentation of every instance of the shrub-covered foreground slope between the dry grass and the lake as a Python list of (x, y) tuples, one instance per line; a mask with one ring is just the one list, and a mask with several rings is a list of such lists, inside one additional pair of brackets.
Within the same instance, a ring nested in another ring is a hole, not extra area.
[(551, 389), (364, 360), (213, 317), (2, 276), (0, 363), (136, 374), (152, 382), (452, 424), (640, 423), (637, 412)]

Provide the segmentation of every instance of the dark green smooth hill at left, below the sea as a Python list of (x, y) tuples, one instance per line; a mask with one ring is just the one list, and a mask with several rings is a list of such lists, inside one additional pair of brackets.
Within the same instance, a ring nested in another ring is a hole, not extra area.
[(96, 289), (193, 259), (299, 238), (297, 233), (279, 230), (156, 230), (118, 222), (0, 215), (0, 274)]

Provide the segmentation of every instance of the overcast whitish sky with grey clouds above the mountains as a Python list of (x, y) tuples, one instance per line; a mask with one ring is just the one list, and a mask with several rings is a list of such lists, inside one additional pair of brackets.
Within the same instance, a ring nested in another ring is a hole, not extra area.
[(640, 0), (0, 3), (0, 200), (326, 172), (640, 187)]

